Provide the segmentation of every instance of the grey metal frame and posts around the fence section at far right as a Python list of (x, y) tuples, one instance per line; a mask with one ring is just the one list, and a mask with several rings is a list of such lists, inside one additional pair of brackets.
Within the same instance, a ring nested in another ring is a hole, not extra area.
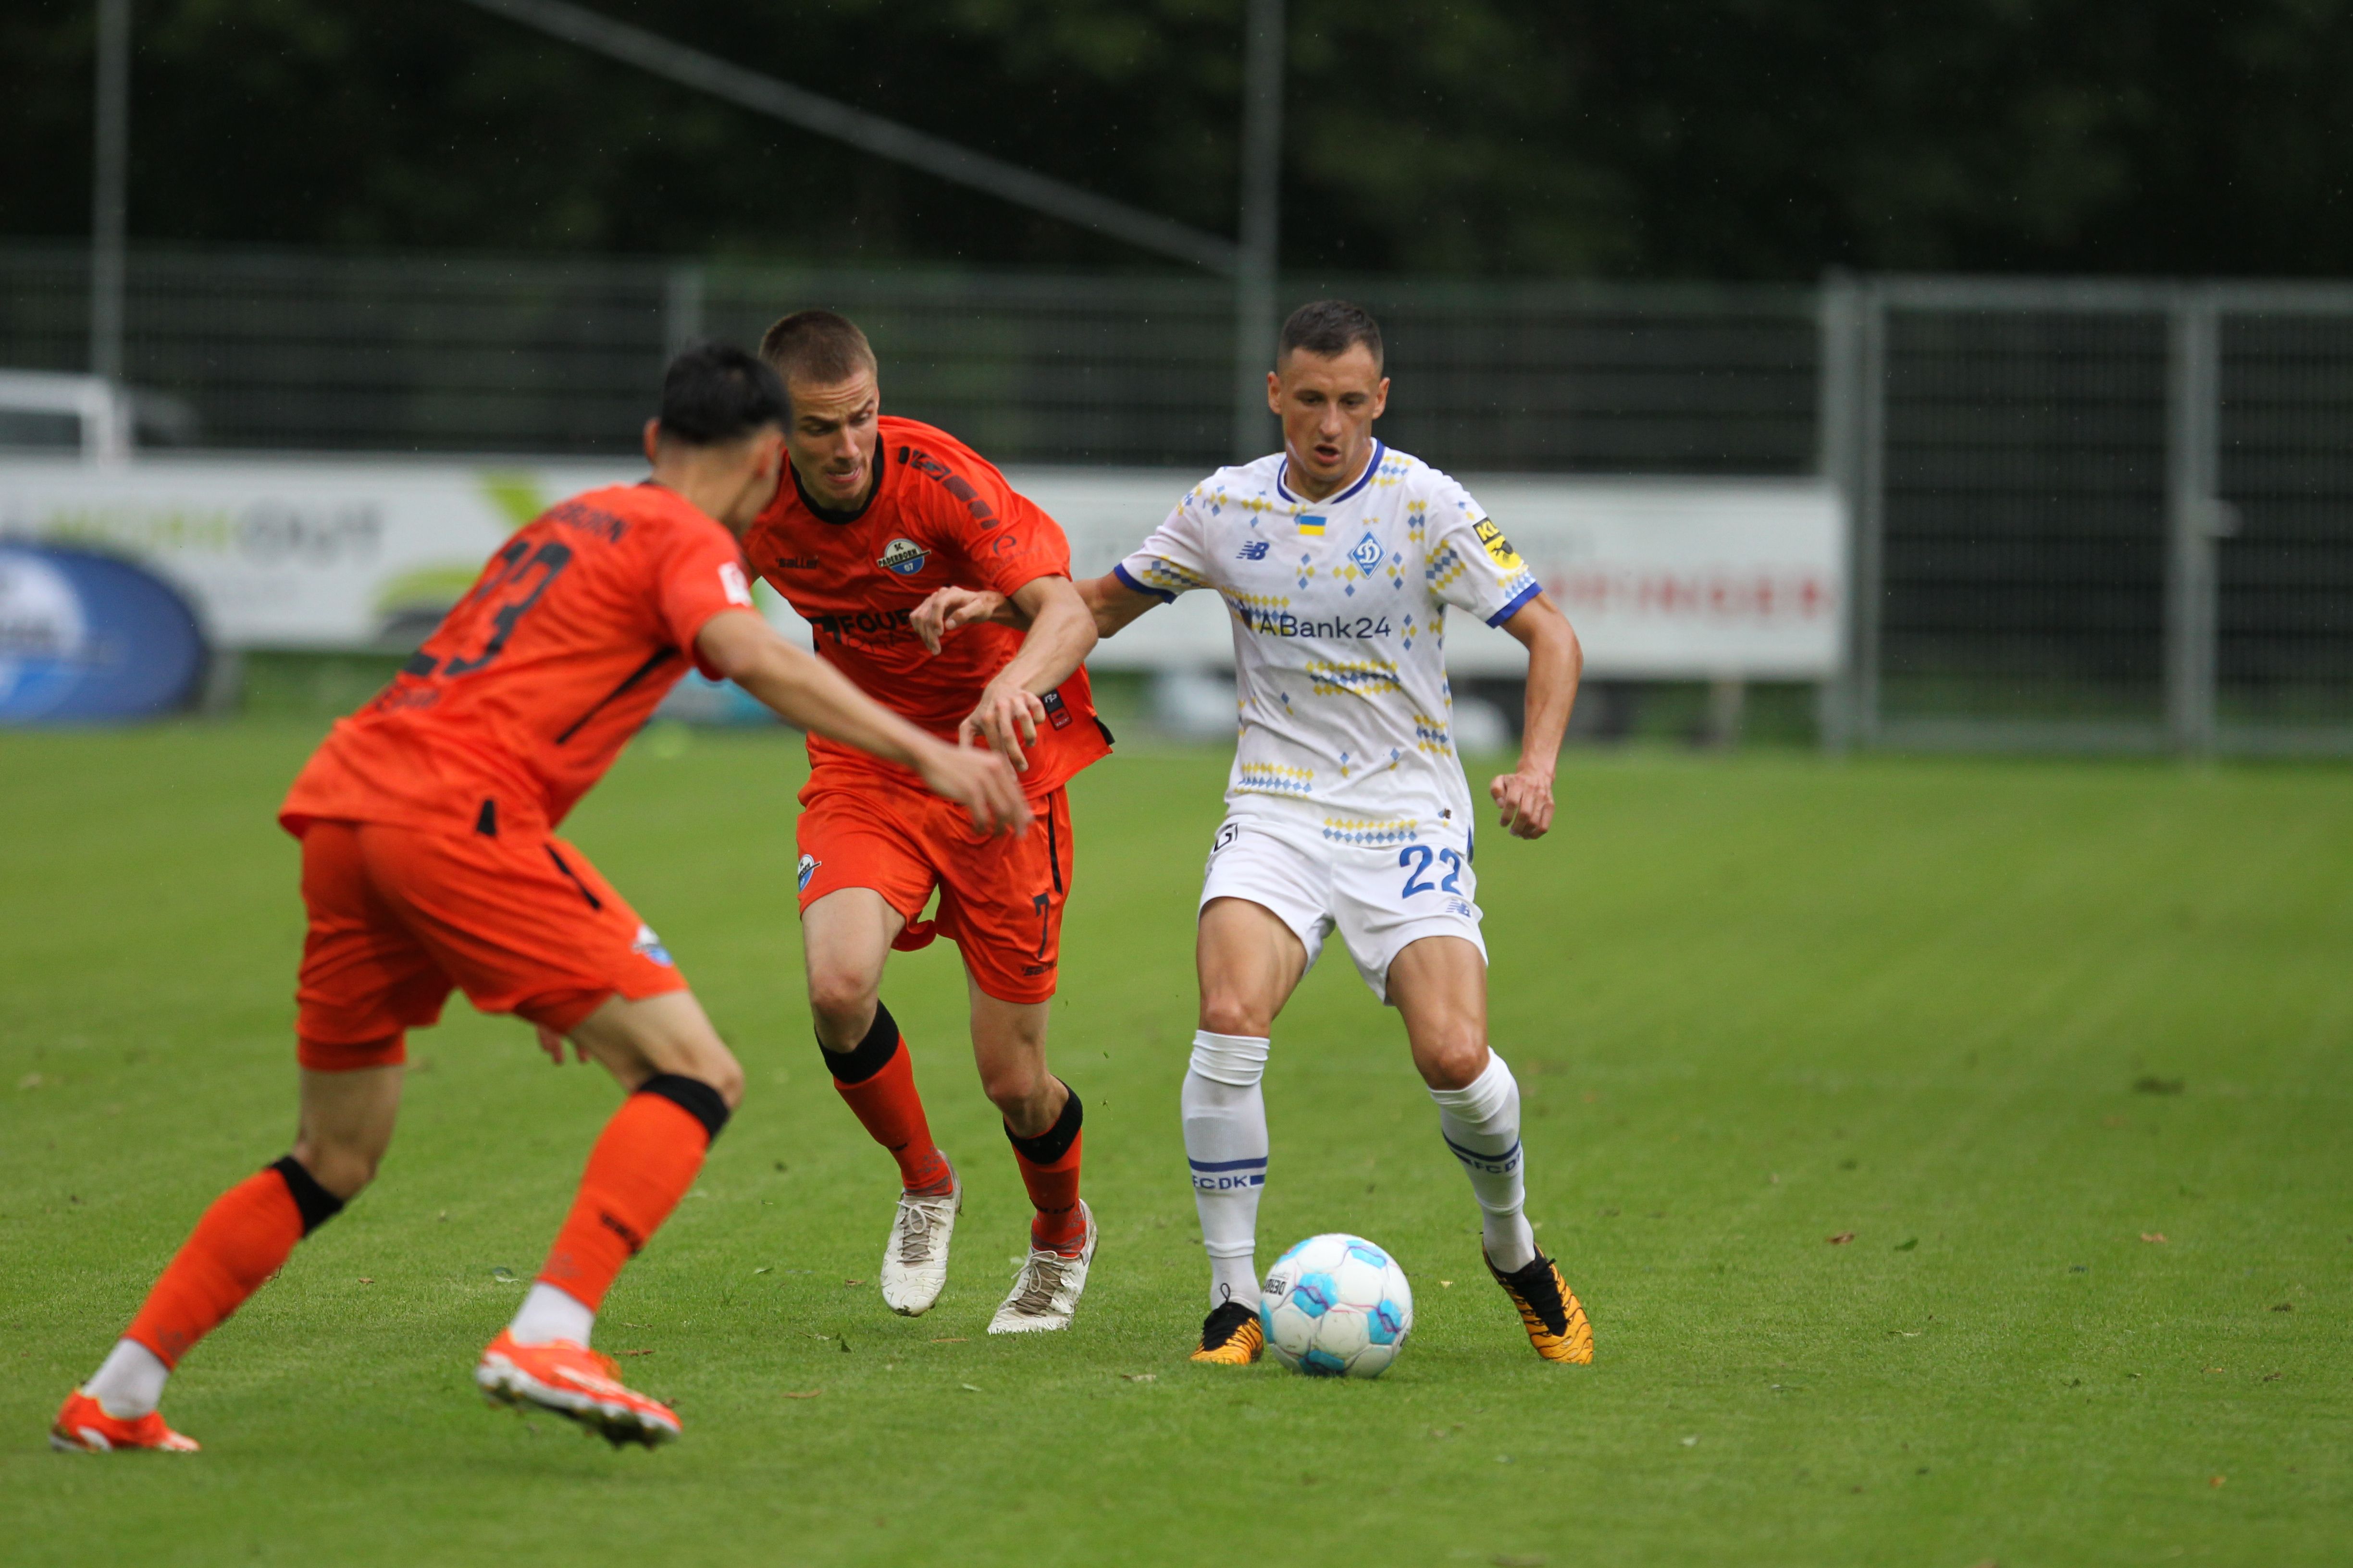
[[(2165, 322), (2162, 719), (1920, 719), (1882, 712), (1887, 599), (1889, 315), (2071, 313)], [(1847, 496), (1847, 663), (1824, 691), (1831, 748), (2353, 755), (2353, 724), (2235, 724), (2217, 712), (2224, 496), (2224, 350), (2231, 315), (2353, 322), (2348, 284), (1849, 277), (1821, 292), (1821, 468)]]

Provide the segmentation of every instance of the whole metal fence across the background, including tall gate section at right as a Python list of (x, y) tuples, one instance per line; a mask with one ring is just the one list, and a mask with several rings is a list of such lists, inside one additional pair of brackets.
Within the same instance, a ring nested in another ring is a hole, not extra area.
[[(87, 275), (0, 247), (0, 364), (85, 364)], [(1315, 294), (1381, 315), (1384, 435), (1447, 468), (1835, 475), (1833, 743), (2353, 750), (2353, 287)], [(127, 378), (219, 447), (621, 454), (671, 350), (812, 303), (1002, 461), (1233, 456), (1233, 301), (1191, 277), (148, 252)]]

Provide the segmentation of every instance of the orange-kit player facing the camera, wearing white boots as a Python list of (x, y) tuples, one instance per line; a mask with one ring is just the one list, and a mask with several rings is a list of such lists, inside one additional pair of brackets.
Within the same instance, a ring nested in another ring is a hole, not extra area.
[[(809, 736), (802, 954), (833, 1084), (899, 1161), (882, 1300), (906, 1316), (939, 1300), (962, 1208), (880, 999), (892, 947), (939, 933), (962, 950), (981, 1088), (1035, 1206), (1028, 1258), (988, 1333), (1068, 1328), (1096, 1229), (1078, 1197), (1082, 1107), (1047, 1072), (1045, 1025), (1071, 891), (1064, 783), (1111, 750), (1080, 668), (1094, 616), (1052, 517), (946, 430), (882, 414), (875, 355), (852, 322), (802, 310), (769, 327), (760, 353), (784, 376), (793, 421), (786, 482), (744, 538), (753, 569), (861, 691), (934, 736), (1000, 750), (1040, 818), (1019, 839), (972, 832), (904, 766)], [(908, 614), (946, 583), (1002, 592), (1028, 630), (976, 628), (934, 658)], [(922, 922), (934, 889), (939, 917)]]

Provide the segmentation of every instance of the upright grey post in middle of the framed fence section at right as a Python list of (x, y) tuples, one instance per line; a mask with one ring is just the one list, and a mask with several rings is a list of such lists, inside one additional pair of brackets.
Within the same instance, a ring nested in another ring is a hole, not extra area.
[(2167, 346), (2165, 729), (2181, 755), (2214, 750), (2214, 536), (2221, 531), (2221, 313), (2174, 299)]

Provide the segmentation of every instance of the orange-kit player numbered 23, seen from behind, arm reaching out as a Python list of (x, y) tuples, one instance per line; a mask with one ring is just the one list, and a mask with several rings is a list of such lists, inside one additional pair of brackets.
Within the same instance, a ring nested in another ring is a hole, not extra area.
[(193, 1450), (155, 1408), (188, 1349), (374, 1173), (400, 1107), (405, 1030), (452, 987), (539, 1025), (628, 1091), (588, 1157), (546, 1267), (475, 1382), (612, 1443), (678, 1436), (678, 1415), (588, 1349), (605, 1288), (694, 1182), (744, 1093), (661, 940), (558, 823), (692, 661), (793, 724), (911, 769), (976, 839), (1021, 835), (1009, 766), (864, 698), (751, 609), (736, 534), (776, 491), (784, 386), (722, 346), (680, 355), (645, 428), (645, 484), (588, 491), (504, 545), (466, 597), (294, 780), (304, 940), (294, 1152), (221, 1194), (89, 1382), (59, 1448)]

